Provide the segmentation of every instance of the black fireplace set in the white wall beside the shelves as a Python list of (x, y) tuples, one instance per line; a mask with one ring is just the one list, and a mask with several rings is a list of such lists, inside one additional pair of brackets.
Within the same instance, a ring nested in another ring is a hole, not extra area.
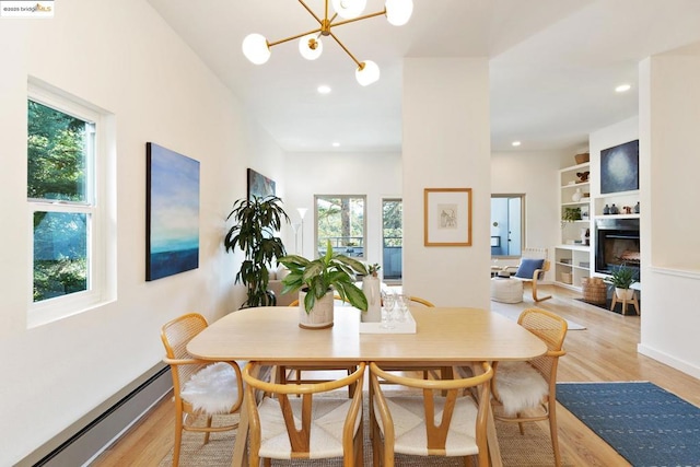
[(622, 264), (640, 280), (639, 219), (596, 219), (595, 271), (609, 275)]

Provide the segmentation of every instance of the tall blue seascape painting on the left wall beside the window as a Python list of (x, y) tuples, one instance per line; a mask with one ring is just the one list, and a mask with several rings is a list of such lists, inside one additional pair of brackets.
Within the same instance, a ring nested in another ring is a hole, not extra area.
[(149, 142), (145, 280), (199, 267), (199, 161)]

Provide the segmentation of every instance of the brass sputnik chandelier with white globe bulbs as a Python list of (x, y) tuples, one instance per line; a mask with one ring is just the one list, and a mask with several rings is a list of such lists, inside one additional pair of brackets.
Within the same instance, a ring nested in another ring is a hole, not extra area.
[[(340, 39), (338, 39), (334, 34), (332, 28), (380, 15), (386, 15), (386, 20), (389, 24), (402, 26), (408, 22), (408, 20), (410, 20), (411, 13), (413, 12), (412, 0), (386, 0), (384, 10), (364, 15), (362, 12), (366, 5), (366, 0), (331, 0), (335, 13), (332, 16), (328, 17), (328, 0), (325, 0), (324, 17), (320, 19), (311, 8), (308, 8), (306, 3), (304, 3), (303, 0), (299, 0), (299, 2), (312, 16), (314, 16), (318, 22), (319, 27), (272, 43), (268, 42), (267, 38), (260, 34), (248, 34), (245, 39), (243, 39), (243, 54), (246, 58), (255, 65), (262, 65), (270, 58), (270, 49), (273, 46), (300, 39), (299, 51), (302, 57), (307, 60), (315, 60), (320, 57), (324, 49), (320, 40), (322, 36), (330, 36), (358, 66), (354, 75), (358, 82), (363, 86), (372, 84), (380, 79), (380, 67), (377, 67), (377, 65), (372, 60), (359, 61), (340, 42)], [(340, 17), (340, 20), (338, 20), (338, 17)]]

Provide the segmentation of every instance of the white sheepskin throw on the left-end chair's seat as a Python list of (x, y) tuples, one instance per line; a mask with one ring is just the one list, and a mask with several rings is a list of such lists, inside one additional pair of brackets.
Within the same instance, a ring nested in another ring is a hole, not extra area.
[(229, 413), (238, 399), (236, 372), (228, 363), (205, 366), (185, 383), (184, 400), (205, 413)]

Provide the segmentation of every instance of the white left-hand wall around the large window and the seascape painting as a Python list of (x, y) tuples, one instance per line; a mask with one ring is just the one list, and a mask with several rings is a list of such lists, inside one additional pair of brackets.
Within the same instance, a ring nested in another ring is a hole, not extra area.
[[(276, 144), (145, 1), (73, 0), (57, 4), (54, 19), (1, 23), (0, 353), (12, 358), (0, 385), (0, 465), (12, 465), (156, 364), (163, 323), (237, 308), (224, 219), (246, 194), (253, 159), (271, 178), (283, 177), (283, 165)], [(117, 130), (117, 300), (33, 329), (28, 75), (113, 113)], [(201, 163), (199, 269), (153, 282), (143, 259), (147, 141)]]

